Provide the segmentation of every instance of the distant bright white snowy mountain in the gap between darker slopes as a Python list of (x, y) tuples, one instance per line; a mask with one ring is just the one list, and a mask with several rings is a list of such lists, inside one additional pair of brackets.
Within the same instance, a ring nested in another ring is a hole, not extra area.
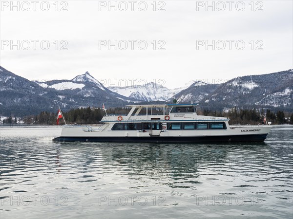
[(173, 96), (173, 93), (169, 89), (153, 82), (124, 88), (108, 87), (108, 89), (140, 101), (165, 101)]

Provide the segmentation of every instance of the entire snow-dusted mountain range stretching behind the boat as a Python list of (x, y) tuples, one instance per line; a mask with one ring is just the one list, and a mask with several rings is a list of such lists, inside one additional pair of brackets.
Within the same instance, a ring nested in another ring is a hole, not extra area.
[(34, 82), (0, 66), (0, 115), (32, 115), (45, 110), (56, 111), (58, 106), (69, 110), (102, 107), (103, 103), (107, 108), (137, 102), (171, 103), (177, 91), (175, 98), (180, 103), (199, 103), (217, 110), (234, 106), (289, 110), (293, 107), (291, 70), (236, 77), (223, 84), (192, 82), (173, 90), (152, 82), (143, 86), (105, 88), (88, 72), (71, 80)]

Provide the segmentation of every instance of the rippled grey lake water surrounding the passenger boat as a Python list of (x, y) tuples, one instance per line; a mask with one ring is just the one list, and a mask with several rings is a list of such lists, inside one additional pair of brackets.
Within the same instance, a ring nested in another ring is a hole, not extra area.
[(262, 144), (58, 143), (0, 128), (5, 218), (292, 218), (293, 127)]

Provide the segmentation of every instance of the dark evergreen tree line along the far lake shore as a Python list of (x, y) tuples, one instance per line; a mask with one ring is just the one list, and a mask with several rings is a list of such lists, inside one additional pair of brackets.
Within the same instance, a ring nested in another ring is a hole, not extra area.
[[(107, 114), (127, 114), (128, 108), (109, 108)], [(160, 110), (153, 111), (153, 113), (161, 113)], [(162, 112), (163, 113), (163, 112)], [(230, 119), (229, 124), (241, 125), (257, 125), (264, 124), (264, 117), (267, 122), (276, 124), (293, 124), (293, 113), (284, 112), (282, 110), (265, 110), (265, 109), (239, 109), (233, 108), (226, 111), (213, 110), (197, 110), (198, 115), (227, 117)], [(105, 110), (100, 108), (79, 108), (63, 112), (63, 116), (67, 124), (99, 124)], [(2, 119), (3, 124), (34, 124), (34, 125), (56, 125), (57, 112), (42, 111), (38, 115), (25, 116), (23, 118), (16, 118), (13, 116)], [(59, 125), (63, 125), (63, 119), (60, 120)]]

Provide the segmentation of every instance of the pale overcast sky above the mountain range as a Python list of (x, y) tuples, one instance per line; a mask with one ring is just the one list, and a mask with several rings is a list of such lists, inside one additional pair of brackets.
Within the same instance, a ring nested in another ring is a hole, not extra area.
[(293, 68), (292, 0), (209, 1), (208, 8), (206, 1), (111, 1), (117, 11), (108, 1), (54, 2), (11, 8), (1, 1), (3, 68), (27, 79), (88, 71), (112, 86), (136, 79), (167, 88)]

